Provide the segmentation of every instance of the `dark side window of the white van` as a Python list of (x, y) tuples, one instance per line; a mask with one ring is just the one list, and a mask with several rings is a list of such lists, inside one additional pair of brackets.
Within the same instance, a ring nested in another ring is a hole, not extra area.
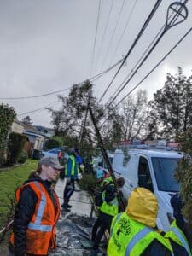
[(154, 191), (153, 184), (150, 176), (148, 160), (143, 156), (139, 158), (139, 165), (138, 165), (138, 185), (139, 187), (143, 187), (146, 189)]

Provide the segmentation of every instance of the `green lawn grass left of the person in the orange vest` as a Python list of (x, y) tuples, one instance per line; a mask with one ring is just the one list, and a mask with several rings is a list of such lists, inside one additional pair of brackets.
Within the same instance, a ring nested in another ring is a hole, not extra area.
[(36, 170), (37, 165), (38, 160), (28, 159), (22, 166), (0, 169), (0, 230), (9, 210), (9, 197), (15, 198), (15, 189), (24, 183), (32, 170)]

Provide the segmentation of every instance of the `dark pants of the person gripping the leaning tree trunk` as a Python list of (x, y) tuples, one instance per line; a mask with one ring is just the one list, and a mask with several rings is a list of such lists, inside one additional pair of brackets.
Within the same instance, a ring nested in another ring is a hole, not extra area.
[(99, 243), (102, 240), (102, 236), (104, 235), (105, 230), (110, 232), (112, 219), (113, 216), (110, 216), (104, 212), (99, 212), (99, 217), (96, 219), (92, 230), (92, 241), (94, 242), (94, 249), (99, 247)]

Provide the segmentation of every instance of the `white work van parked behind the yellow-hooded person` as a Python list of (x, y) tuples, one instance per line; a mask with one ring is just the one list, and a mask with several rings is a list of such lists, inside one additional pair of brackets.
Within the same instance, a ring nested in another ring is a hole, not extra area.
[(125, 185), (122, 192), (125, 199), (132, 189), (145, 187), (154, 192), (159, 212), (157, 226), (165, 232), (169, 230), (172, 218), (171, 196), (180, 190), (174, 178), (177, 160), (183, 154), (176, 151), (162, 149), (129, 149), (130, 160), (125, 161), (125, 154), (121, 149), (115, 151), (113, 157), (113, 172), (116, 177), (124, 177)]

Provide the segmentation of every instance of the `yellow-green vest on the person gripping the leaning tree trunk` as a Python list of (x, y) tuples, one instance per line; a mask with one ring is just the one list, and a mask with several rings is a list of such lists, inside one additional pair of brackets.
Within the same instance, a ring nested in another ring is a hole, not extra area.
[(118, 214), (119, 206), (118, 206), (118, 199), (115, 197), (113, 201), (106, 202), (105, 201), (105, 193), (106, 191), (102, 192), (102, 206), (99, 207), (100, 211), (107, 213), (110, 216), (115, 216)]

